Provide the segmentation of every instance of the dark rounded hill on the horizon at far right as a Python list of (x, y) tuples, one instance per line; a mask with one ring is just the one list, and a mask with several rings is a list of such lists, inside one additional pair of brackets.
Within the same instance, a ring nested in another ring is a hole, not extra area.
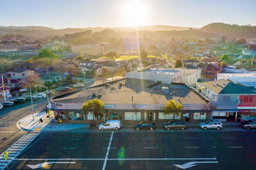
[(238, 26), (216, 22), (203, 26), (200, 30), (230, 38), (256, 38), (256, 26)]

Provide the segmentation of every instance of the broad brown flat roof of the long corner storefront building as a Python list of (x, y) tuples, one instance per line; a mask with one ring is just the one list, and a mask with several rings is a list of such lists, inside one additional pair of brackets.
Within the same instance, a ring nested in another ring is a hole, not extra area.
[[(122, 86), (119, 84), (122, 83)], [(104, 104), (166, 104), (167, 100), (174, 99), (181, 104), (206, 104), (198, 94), (183, 84), (158, 84), (148, 87), (154, 82), (150, 80), (124, 79), (110, 86), (100, 85), (85, 90), (54, 98), (57, 103), (83, 103), (90, 100), (92, 93)], [(163, 93), (162, 87), (168, 87), (169, 93)]]

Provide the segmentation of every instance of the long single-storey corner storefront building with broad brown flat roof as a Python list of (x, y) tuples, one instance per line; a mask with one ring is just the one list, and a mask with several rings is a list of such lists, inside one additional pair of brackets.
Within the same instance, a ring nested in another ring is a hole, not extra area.
[[(208, 110), (204, 109), (206, 101), (183, 84), (130, 78), (54, 97), (51, 100), (51, 110), (63, 117), (66, 123), (92, 122), (92, 114), (83, 114), (81, 106), (94, 98), (105, 104), (104, 117), (99, 122), (113, 119), (119, 119), (122, 123), (184, 119), (198, 121), (210, 117)], [(182, 104), (180, 115), (164, 115), (161, 112), (168, 100)]]

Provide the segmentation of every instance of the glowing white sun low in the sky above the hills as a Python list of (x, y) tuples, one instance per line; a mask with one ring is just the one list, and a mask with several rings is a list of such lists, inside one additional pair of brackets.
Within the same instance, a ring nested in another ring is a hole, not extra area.
[(125, 26), (144, 26), (147, 20), (147, 6), (140, 0), (126, 2), (122, 12)]

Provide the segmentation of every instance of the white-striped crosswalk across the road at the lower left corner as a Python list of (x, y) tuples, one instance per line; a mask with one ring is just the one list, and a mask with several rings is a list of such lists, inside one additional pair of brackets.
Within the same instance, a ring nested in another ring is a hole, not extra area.
[[(22, 138), (19, 138), (11, 147), (6, 151), (8, 152), (8, 164), (15, 159), (20, 152), (22, 152), (35, 138), (40, 134), (40, 131), (30, 131), (24, 134)], [(0, 155), (0, 169), (5, 169), (7, 167), (7, 162), (5, 161), (4, 153)]]

